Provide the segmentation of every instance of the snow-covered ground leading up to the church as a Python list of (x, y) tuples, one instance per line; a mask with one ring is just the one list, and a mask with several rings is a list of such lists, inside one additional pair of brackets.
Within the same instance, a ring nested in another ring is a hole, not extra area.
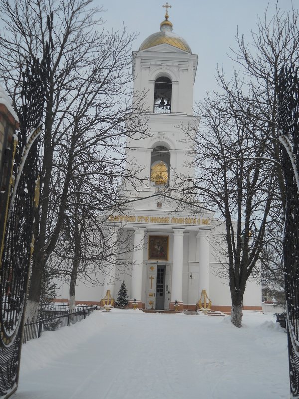
[(23, 346), (13, 399), (290, 398), (287, 334), (271, 315), (113, 309)]

